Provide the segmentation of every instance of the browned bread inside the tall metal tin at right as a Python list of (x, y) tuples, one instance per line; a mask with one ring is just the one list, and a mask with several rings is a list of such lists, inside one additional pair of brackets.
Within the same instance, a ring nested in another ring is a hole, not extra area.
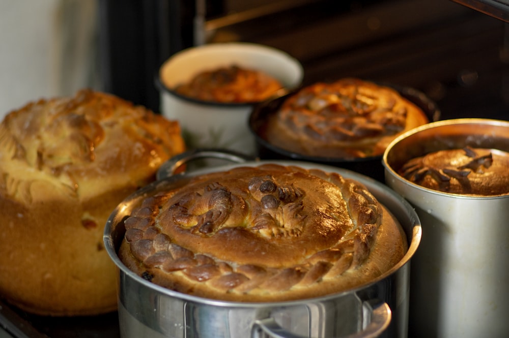
[(450, 194), (509, 194), (509, 153), (464, 147), (430, 152), (409, 160), (399, 174), (419, 186)]

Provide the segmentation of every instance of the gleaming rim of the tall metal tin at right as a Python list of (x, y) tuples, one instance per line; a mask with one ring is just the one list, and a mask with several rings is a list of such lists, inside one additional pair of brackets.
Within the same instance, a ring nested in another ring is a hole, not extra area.
[(490, 199), (500, 199), (500, 198), (509, 197), (509, 193), (504, 194), (504, 195), (493, 195), (493, 196), (464, 195), (464, 194), (462, 195), (462, 194), (441, 192), (441, 191), (437, 191), (434, 189), (422, 187), (422, 186), (402, 177), (389, 164), (388, 157), (390, 155), (390, 152), (402, 140), (410, 138), (410, 137), (412, 137), (416, 134), (419, 134), (423, 131), (428, 131), (428, 130), (432, 130), (432, 129), (436, 129), (436, 128), (440, 128), (440, 127), (444, 127), (444, 126), (451, 126), (451, 125), (455, 125), (455, 126), (487, 125), (487, 126), (505, 127), (505, 128), (508, 128), (508, 130), (509, 130), (509, 121), (499, 120), (499, 119), (490, 119), (490, 118), (454, 118), (454, 119), (435, 121), (435, 122), (431, 122), (430, 124), (427, 124), (427, 125), (416, 127), (414, 129), (409, 130), (408, 132), (400, 135), (399, 137), (395, 138), (392, 142), (389, 143), (389, 145), (385, 149), (385, 151), (383, 153), (383, 157), (382, 157), (382, 164), (385, 168), (386, 175), (390, 175), (390, 178), (397, 179), (400, 183), (403, 183), (414, 190), (417, 190), (420, 192), (425, 192), (425, 193), (436, 195), (436, 196), (453, 197), (455, 199), (466, 199), (466, 200), (490, 200)]

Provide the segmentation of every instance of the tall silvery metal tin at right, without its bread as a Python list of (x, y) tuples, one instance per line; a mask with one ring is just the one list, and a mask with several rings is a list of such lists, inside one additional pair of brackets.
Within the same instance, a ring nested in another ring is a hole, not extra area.
[(402, 135), (384, 153), (386, 184), (415, 207), (423, 228), (410, 284), (409, 334), (416, 338), (509, 334), (509, 194), (441, 193), (397, 173), (413, 157), (467, 145), (509, 151), (509, 122), (438, 121)]

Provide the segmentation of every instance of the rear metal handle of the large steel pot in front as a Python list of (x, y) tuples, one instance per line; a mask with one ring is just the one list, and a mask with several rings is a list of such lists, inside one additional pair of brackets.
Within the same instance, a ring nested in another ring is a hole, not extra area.
[(173, 176), (178, 173), (179, 169), (186, 163), (198, 159), (219, 159), (233, 163), (243, 163), (256, 160), (254, 157), (229, 149), (196, 148), (184, 151), (164, 162), (157, 170), (156, 178), (157, 180), (160, 180)]

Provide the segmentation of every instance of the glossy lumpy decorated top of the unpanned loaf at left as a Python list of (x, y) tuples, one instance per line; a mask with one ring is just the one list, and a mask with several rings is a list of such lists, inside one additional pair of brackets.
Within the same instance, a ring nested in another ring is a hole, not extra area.
[(183, 150), (177, 121), (82, 89), (74, 97), (29, 103), (4, 118), (0, 192), (25, 202), (54, 191), (93, 198), (145, 185), (162, 162)]

